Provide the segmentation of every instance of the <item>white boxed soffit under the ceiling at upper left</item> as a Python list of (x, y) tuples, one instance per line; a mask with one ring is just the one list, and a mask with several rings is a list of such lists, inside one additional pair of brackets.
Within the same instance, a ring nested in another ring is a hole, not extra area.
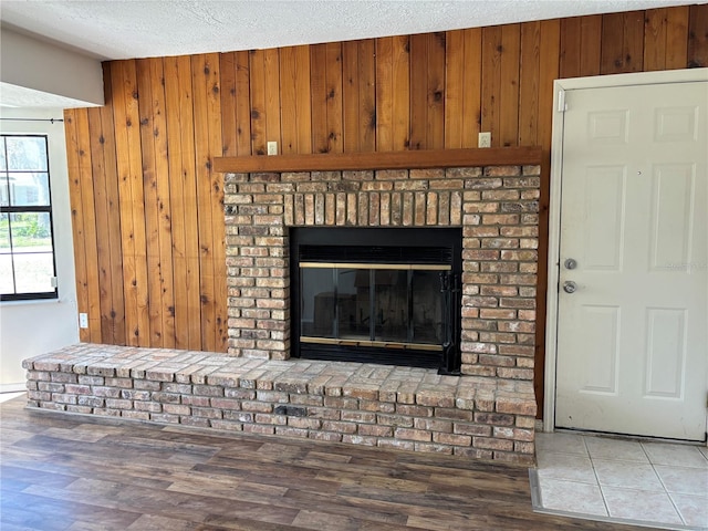
[[(24, 105), (15, 101), (15, 94), (28, 90), (32, 106), (35, 101), (58, 97), (64, 107), (103, 105), (103, 71), (96, 59), (0, 29), (0, 81), (2, 102), (13, 106)], [(81, 81), (79, 81), (81, 80)], [(55, 104), (56, 106), (60, 103)], [(44, 106), (44, 105), (42, 105)]]

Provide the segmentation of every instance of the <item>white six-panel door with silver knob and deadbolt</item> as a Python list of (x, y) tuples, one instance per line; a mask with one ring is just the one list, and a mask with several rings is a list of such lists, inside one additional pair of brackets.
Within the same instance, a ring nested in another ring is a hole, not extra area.
[(705, 440), (708, 82), (565, 103), (555, 425)]

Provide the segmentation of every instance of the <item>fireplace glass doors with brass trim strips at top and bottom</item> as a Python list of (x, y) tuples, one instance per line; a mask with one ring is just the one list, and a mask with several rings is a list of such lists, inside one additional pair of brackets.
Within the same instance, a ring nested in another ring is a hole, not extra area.
[(300, 342), (441, 351), (449, 266), (300, 263)]

